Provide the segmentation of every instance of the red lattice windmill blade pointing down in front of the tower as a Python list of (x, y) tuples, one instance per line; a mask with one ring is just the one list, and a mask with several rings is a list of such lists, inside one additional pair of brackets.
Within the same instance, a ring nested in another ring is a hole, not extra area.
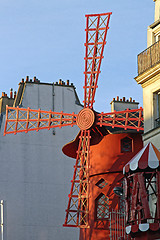
[(89, 214), (89, 150), (90, 130), (82, 130), (79, 137), (76, 164), (69, 194), (64, 227), (87, 228)]

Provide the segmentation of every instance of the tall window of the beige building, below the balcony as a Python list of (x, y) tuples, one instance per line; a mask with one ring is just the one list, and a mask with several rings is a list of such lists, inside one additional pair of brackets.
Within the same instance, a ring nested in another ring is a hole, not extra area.
[(155, 127), (160, 126), (160, 91), (154, 93)]

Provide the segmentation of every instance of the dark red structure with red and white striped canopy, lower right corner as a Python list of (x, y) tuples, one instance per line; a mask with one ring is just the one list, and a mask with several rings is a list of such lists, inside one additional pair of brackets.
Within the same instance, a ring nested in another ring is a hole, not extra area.
[(124, 167), (126, 232), (131, 239), (160, 239), (160, 152), (147, 144)]

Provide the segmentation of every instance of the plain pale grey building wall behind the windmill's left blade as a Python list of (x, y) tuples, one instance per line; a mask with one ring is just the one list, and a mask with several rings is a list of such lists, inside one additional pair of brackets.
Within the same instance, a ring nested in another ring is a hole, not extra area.
[[(23, 107), (76, 112), (73, 87), (27, 83)], [(61, 149), (79, 129), (64, 127), (3, 136), (0, 131), (0, 199), (5, 200), (4, 240), (73, 240), (77, 228), (64, 228), (75, 160)]]

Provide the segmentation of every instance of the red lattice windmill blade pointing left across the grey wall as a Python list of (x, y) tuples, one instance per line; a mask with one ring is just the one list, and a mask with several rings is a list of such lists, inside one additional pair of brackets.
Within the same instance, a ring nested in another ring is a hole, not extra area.
[(76, 125), (77, 114), (6, 106), (6, 134)]

